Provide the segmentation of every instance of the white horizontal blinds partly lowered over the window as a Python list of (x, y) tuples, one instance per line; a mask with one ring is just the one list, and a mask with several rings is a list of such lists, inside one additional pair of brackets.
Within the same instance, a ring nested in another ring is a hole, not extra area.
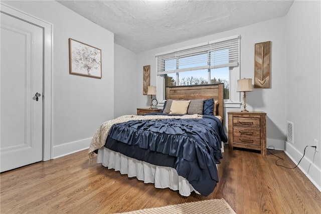
[(194, 47), (156, 54), (157, 75), (236, 67), (239, 65), (239, 35)]

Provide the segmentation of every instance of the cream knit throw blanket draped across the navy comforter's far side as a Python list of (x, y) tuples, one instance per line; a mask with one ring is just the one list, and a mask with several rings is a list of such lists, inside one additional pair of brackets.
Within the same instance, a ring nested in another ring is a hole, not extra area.
[(180, 119), (197, 119), (202, 118), (203, 116), (200, 114), (191, 114), (191, 115), (183, 115), (183, 116), (168, 116), (168, 115), (124, 115), (121, 117), (117, 117), (112, 120), (108, 120), (101, 124), (101, 126), (96, 131), (94, 137), (91, 140), (88, 154), (91, 161), (94, 156), (94, 151), (103, 147), (106, 143), (106, 139), (109, 133), (109, 130), (112, 125), (128, 122), (130, 120), (156, 120), (156, 119), (170, 119), (170, 118), (180, 118)]

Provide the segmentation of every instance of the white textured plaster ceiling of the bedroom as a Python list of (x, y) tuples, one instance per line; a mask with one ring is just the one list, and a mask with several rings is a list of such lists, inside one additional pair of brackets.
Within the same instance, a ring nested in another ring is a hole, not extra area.
[(285, 16), (293, 1), (58, 1), (135, 53)]

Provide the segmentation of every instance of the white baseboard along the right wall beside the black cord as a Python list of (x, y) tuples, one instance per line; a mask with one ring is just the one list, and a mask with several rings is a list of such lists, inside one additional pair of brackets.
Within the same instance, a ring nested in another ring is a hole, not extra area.
[[(291, 143), (285, 142), (285, 154), (295, 163), (298, 162), (295, 159), (300, 159), (303, 153), (298, 151)], [(295, 156), (296, 158), (294, 159)], [(305, 156), (302, 158), (300, 164), (297, 166), (304, 175), (313, 183), (313, 185), (321, 192), (320, 175), (321, 169), (318, 168), (312, 161)]]

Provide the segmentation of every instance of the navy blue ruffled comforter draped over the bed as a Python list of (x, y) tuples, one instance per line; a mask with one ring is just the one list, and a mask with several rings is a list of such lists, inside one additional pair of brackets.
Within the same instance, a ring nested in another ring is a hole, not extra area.
[(134, 120), (115, 124), (105, 147), (154, 165), (169, 166), (187, 178), (202, 195), (218, 182), (221, 141), (227, 142), (222, 123), (202, 119)]

